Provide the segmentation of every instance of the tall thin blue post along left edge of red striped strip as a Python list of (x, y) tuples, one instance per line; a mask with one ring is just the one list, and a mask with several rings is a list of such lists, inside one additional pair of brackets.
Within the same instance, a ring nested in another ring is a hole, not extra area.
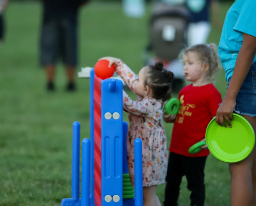
[(90, 140), (91, 140), (91, 194), (90, 206), (94, 206), (94, 68), (90, 73)]

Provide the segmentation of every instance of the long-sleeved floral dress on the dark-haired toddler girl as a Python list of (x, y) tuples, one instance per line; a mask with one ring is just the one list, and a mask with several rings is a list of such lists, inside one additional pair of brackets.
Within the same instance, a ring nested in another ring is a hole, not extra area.
[[(135, 74), (121, 60), (116, 62), (116, 72), (134, 92)], [(129, 113), (130, 126), (127, 136), (127, 159), (131, 184), (134, 186), (134, 140), (142, 140), (143, 186), (164, 184), (167, 174), (168, 150), (162, 124), (161, 99), (137, 96), (133, 101), (123, 91), (124, 111)]]

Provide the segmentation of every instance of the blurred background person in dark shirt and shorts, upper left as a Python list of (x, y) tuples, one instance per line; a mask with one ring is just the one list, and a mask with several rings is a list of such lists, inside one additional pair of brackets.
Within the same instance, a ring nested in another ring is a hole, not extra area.
[(41, 1), (43, 3), (43, 21), (40, 63), (46, 69), (47, 90), (55, 90), (56, 62), (61, 58), (67, 72), (66, 90), (75, 91), (74, 72), (77, 65), (78, 10), (88, 0)]

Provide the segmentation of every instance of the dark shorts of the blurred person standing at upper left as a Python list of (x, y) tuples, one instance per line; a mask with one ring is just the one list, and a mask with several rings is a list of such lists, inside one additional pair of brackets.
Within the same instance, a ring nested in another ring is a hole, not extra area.
[(65, 65), (77, 65), (77, 24), (63, 18), (43, 22), (41, 31), (41, 65), (55, 65), (59, 58)]

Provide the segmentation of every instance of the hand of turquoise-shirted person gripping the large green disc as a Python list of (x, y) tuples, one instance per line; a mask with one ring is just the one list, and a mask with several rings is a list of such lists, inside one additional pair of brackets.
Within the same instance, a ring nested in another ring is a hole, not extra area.
[(228, 123), (229, 128), (232, 128), (230, 120), (234, 121), (232, 113), (235, 109), (235, 105), (236, 105), (235, 99), (233, 98), (223, 99), (219, 109), (217, 110), (216, 119), (215, 119), (216, 123), (219, 126), (227, 127), (227, 125), (224, 123), (224, 120), (225, 120)]

